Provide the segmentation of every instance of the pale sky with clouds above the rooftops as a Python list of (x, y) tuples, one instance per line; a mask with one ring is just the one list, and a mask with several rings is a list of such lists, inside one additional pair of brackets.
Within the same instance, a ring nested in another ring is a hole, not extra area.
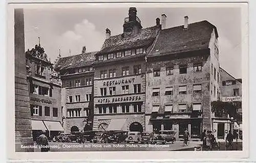
[[(134, 7), (134, 6), (132, 6)], [(135, 6), (136, 7), (136, 6)], [(38, 43), (53, 62), (61, 57), (97, 51), (105, 39), (105, 29), (111, 35), (123, 32), (123, 18), (127, 8), (77, 8), (77, 9), (25, 9), (25, 49)], [(184, 16), (188, 22), (207, 20), (217, 26), (219, 34), (220, 65), (236, 78), (241, 70), (241, 15), (239, 8), (137, 8), (137, 16), (143, 28), (154, 26), (156, 18), (167, 15), (167, 28), (182, 25)]]

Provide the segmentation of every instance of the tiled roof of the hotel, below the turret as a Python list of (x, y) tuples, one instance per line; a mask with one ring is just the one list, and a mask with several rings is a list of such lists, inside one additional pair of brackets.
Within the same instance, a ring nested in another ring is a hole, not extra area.
[(106, 39), (99, 53), (108, 53), (121, 49), (129, 49), (150, 45), (156, 38), (160, 26), (152, 26), (150, 28), (141, 29), (140, 32), (132, 37), (124, 38), (123, 34), (111, 36)]

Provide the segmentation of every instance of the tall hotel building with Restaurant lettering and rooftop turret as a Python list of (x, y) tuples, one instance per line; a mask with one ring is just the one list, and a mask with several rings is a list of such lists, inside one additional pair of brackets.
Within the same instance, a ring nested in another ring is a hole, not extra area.
[(94, 130), (145, 130), (145, 56), (160, 25), (142, 29), (136, 8), (124, 18), (123, 34), (106, 39), (94, 62)]

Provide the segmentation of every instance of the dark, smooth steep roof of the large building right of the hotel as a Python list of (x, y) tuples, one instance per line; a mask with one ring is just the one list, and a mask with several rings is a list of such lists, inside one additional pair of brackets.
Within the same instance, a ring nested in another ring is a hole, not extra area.
[(208, 48), (213, 29), (218, 37), (216, 27), (206, 20), (188, 24), (187, 29), (180, 25), (161, 30), (148, 57)]

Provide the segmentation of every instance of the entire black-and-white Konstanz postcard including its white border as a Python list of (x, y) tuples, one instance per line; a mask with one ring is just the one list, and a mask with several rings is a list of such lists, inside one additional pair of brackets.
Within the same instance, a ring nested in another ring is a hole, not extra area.
[(248, 157), (247, 12), (8, 4), (9, 157)]

